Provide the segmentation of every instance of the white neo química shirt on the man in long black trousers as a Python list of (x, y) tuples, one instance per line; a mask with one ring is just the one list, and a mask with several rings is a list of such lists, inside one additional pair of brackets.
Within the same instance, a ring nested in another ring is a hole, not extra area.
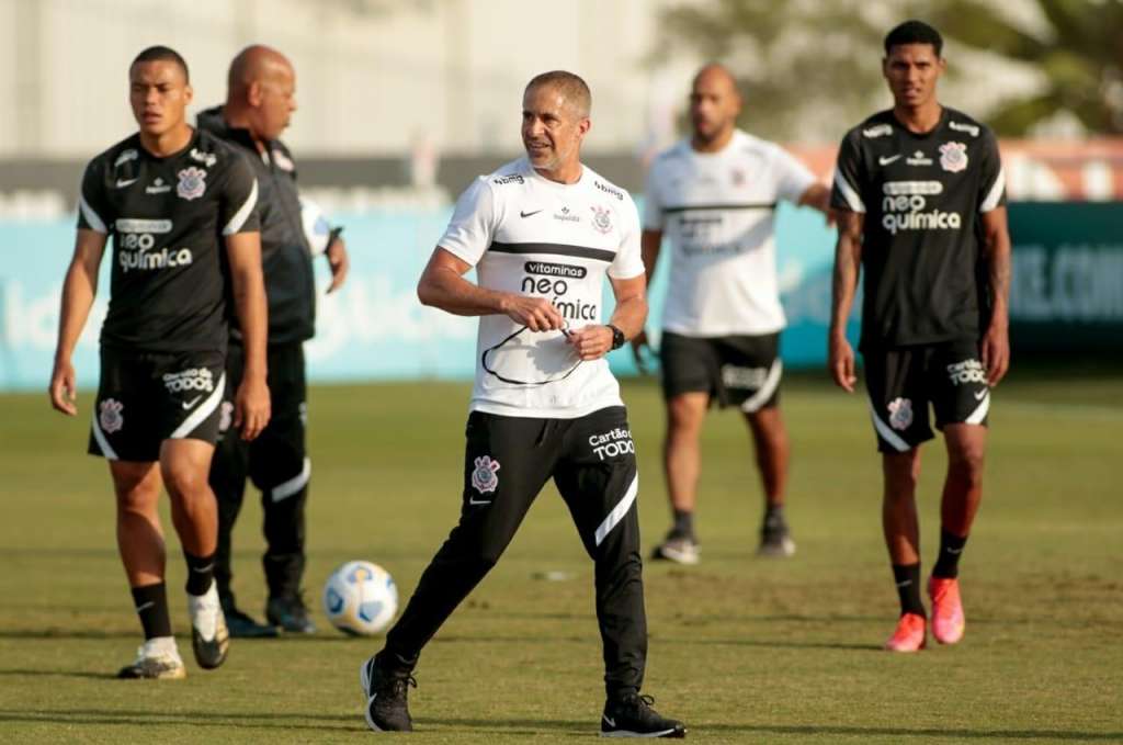
[[(576, 183), (549, 181), (522, 157), (468, 187), (438, 245), (475, 266), (480, 287), (547, 298), (577, 329), (602, 322), (605, 273), (643, 273), (639, 235), (639, 212), (623, 189), (588, 166)], [(492, 349), (520, 328), (503, 315), (480, 318), (473, 411), (570, 419), (623, 406), (608, 361), (574, 367), (578, 357), (562, 331), (523, 330)], [(484, 369), (485, 352), (502, 378), (554, 382), (504, 382)]]

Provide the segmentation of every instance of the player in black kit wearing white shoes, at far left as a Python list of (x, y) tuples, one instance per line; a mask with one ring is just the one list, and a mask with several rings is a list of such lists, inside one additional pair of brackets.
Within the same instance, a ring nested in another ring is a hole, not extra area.
[(149, 47), (133, 61), (129, 101), (139, 131), (90, 161), (82, 179), (49, 394), (55, 409), (77, 414), (71, 356), (112, 235), (90, 453), (109, 462), (118, 547), (145, 633), (119, 676), (174, 679), (185, 670), (167, 612), (161, 483), (188, 563), (195, 660), (217, 667), (228, 648), (207, 473), (235, 310), (246, 346), (235, 421), (253, 439), (270, 418), (257, 182), (241, 154), (188, 126), (188, 67), (173, 49)]

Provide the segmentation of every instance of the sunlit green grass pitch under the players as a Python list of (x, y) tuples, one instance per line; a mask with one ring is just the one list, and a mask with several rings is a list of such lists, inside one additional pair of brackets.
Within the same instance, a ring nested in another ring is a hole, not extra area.
[[(646, 566), (646, 691), (711, 743), (1123, 742), (1123, 382), (1015, 370), (995, 394), (983, 510), (964, 560), (965, 640), (879, 651), (896, 596), (879, 523), (865, 402), (792, 380), (791, 560), (754, 557), (760, 497), (745, 427), (711, 417), (699, 530), (703, 562)], [(339, 563), (386, 566), (404, 594), (454, 524), (467, 387), (321, 387), (311, 396), (307, 575), (321, 630), (235, 640), (226, 666), (182, 682), (116, 681), (139, 625), (113, 538), (106, 467), (45, 396), (0, 410), (0, 742), (355, 742), (359, 663), (319, 612)], [(640, 454), (645, 547), (666, 529), (656, 387), (626, 385)], [(925, 566), (943, 470), (926, 448)], [(236, 535), (236, 589), (261, 614), (261, 511)], [(170, 526), (166, 519), (165, 526)], [(170, 537), (173, 623), (186, 627)], [(567, 581), (536, 579), (557, 570)], [(404, 600), (404, 598), (403, 598)], [(426, 649), (411, 692), (418, 743), (573, 743), (602, 705), (592, 566), (553, 488), (495, 571)]]

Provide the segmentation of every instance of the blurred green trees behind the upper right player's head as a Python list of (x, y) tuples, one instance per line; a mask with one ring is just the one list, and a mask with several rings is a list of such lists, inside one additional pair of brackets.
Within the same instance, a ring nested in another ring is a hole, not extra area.
[[(884, 106), (882, 39), (894, 22), (920, 18), (951, 43), (1039, 72), (1041, 84), (1030, 94), (995, 92), (999, 102), (986, 119), (999, 136), (1025, 136), (1058, 113), (1075, 117), (1089, 135), (1123, 135), (1123, 0), (1032, 2), (1043, 29), (1013, 25), (987, 0), (679, 4), (663, 12), (659, 54), (685, 47), (731, 63), (750, 93), (742, 113), (749, 128), (794, 139), (813, 135), (818, 122), (849, 126)], [(970, 74), (953, 62), (949, 75)]]

